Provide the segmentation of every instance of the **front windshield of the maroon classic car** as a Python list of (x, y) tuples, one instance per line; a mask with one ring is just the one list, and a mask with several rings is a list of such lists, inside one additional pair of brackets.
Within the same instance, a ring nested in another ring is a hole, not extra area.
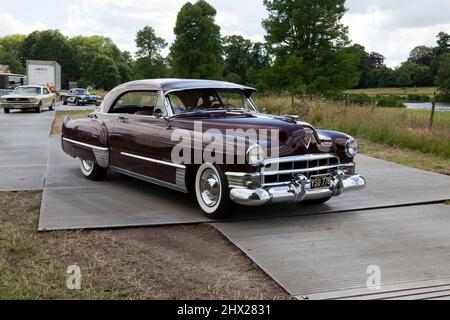
[(168, 94), (175, 115), (215, 110), (256, 112), (252, 100), (240, 90), (198, 89)]

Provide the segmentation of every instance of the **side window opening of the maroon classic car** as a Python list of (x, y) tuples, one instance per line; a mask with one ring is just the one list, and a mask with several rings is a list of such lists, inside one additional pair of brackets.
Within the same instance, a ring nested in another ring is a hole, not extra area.
[(114, 103), (109, 113), (153, 116), (158, 94), (155, 91), (126, 92)]

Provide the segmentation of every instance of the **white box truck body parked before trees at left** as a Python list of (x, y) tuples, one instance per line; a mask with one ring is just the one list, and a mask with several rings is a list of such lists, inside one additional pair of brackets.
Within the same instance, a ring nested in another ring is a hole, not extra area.
[(61, 66), (55, 61), (27, 60), (28, 85), (61, 90)]

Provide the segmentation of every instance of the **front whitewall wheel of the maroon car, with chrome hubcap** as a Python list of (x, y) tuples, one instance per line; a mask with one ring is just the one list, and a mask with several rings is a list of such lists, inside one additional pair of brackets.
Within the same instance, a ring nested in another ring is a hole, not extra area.
[(227, 179), (223, 170), (216, 165), (204, 163), (200, 166), (195, 178), (195, 196), (209, 219), (226, 219), (234, 212)]

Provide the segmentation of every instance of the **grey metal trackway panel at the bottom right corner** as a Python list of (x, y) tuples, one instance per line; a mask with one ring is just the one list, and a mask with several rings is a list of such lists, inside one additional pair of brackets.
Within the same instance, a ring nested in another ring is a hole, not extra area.
[[(298, 299), (450, 297), (450, 206), (214, 223)], [(367, 288), (369, 266), (381, 289)]]

